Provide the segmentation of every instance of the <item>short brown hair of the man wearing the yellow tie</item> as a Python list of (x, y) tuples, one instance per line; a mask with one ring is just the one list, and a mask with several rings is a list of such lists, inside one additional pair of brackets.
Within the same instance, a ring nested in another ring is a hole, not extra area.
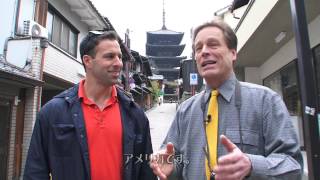
[(237, 45), (238, 45), (238, 38), (232, 28), (225, 23), (221, 18), (215, 18), (212, 21), (206, 22), (201, 24), (200, 26), (196, 27), (193, 31), (193, 36), (192, 36), (192, 50), (194, 52), (194, 41), (196, 39), (196, 36), (198, 33), (206, 28), (206, 27), (216, 27), (219, 28), (224, 36), (224, 40), (226, 41), (226, 44), (229, 49), (235, 49), (237, 50)]

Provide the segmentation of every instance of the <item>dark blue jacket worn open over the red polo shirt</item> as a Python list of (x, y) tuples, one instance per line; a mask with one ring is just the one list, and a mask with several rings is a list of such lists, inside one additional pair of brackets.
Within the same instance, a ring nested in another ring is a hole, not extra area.
[[(123, 128), (123, 180), (156, 179), (149, 121), (123, 90), (117, 89)], [(112, 118), (112, 117), (110, 117)], [(39, 112), (30, 142), (24, 180), (90, 180), (86, 129), (78, 85), (50, 100)]]

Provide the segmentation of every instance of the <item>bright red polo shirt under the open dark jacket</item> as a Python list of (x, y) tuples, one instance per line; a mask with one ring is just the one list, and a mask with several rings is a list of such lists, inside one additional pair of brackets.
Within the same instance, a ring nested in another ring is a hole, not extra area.
[(79, 98), (87, 131), (92, 180), (122, 179), (122, 124), (115, 86), (105, 108), (87, 98), (84, 80), (79, 85)]

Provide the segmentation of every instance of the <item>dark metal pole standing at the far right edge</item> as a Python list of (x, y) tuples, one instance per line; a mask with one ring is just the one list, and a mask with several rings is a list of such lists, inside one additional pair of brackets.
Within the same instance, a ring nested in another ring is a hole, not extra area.
[(292, 24), (296, 38), (298, 55), (299, 84), (303, 108), (303, 132), (307, 152), (308, 178), (320, 177), (320, 138), (319, 138), (319, 102), (316, 76), (310, 41), (308, 23), (303, 0), (290, 0)]

